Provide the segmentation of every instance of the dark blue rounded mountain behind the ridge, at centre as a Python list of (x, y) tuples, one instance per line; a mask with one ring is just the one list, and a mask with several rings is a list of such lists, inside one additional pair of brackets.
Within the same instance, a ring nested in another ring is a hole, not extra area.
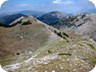
[(57, 22), (58, 20), (65, 18), (66, 16), (67, 15), (64, 14), (63, 12), (53, 11), (53, 12), (49, 12), (47, 14), (42, 15), (38, 19), (51, 25)]

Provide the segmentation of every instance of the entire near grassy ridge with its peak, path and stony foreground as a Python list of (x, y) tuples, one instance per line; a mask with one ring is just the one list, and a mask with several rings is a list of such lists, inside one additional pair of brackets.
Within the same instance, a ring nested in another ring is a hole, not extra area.
[(9, 72), (88, 72), (96, 63), (96, 43), (20, 17), (0, 26), (0, 63)]

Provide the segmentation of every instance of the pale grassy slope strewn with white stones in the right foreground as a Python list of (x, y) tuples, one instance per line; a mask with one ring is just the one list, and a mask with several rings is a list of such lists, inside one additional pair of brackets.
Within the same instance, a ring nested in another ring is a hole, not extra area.
[(87, 37), (75, 36), (69, 42), (58, 40), (40, 47), (32, 56), (15, 71), (88, 72), (96, 63), (96, 44)]

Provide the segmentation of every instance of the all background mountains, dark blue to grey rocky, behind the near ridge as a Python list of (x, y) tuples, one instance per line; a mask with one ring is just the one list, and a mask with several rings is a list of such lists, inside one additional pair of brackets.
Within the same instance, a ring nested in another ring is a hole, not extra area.
[(39, 11), (21, 11), (20, 13), (6, 15), (0, 18), (0, 23), (9, 25), (20, 17), (27, 17), (35, 14), (40, 16), (37, 17), (40, 21), (59, 30), (71, 31), (80, 35), (88, 35), (93, 37), (94, 40), (96, 39), (96, 13), (68, 15), (58, 11), (53, 11), (46, 14), (43, 14), (42, 12), (39, 13)]

